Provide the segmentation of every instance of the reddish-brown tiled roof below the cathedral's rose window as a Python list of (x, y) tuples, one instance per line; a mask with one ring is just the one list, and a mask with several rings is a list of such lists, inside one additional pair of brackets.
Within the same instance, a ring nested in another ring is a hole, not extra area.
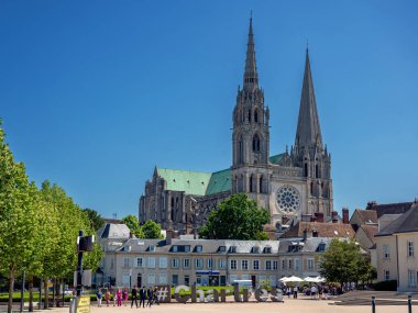
[(301, 238), (304, 230), (318, 232), (318, 237), (354, 237), (355, 233), (351, 224), (342, 223), (318, 223), (318, 222), (299, 222), (289, 231), (284, 233), (280, 238)]

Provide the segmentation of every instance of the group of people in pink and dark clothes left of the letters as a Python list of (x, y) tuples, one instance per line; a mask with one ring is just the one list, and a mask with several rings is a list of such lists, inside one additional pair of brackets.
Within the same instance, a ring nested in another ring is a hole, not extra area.
[[(131, 290), (131, 308), (133, 306), (133, 302), (135, 302), (135, 305), (138, 308), (138, 300), (140, 300), (140, 306), (142, 304), (142, 308), (145, 308), (145, 305), (151, 308), (153, 303), (160, 305), (156, 291), (156, 287), (154, 289), (142, 287), (140, 290), (138, 290), (136, 286), (134, 286)], [(111, 302), (113, 302), (113, 306), (122, 306), (122, 303), (124, 306), (127, 306), (129, 301), (129, 292), (128, 288), (124, 288), (123, 290), (121, 288), (110, 288), (105, 289), (105, 292), (102, 289), (99, 288), (99, 290), (96, 293), (96, 298), (97, 305), (99, 308), (101, 306), (102, 300), (106, 301), (107, 306), (109, 306)]]

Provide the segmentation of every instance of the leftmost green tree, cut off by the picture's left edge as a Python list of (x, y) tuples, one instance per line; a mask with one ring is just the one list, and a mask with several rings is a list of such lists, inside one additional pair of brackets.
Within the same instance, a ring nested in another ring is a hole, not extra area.
[(37, 203), (31, 197), (24, 165), (15, 163), (0, 123), (0, 272), (9, 279), (8, 312), (12, 312), (14, 279), (36, 259), (40, 241)]

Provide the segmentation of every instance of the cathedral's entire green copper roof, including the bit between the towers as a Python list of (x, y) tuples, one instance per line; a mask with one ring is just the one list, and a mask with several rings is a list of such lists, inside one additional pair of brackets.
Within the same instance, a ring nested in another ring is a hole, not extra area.
[[(285, 154), (270, 157), (270, 161), (278, 164)], [(215, 172), (156, 168), (157, 175), (167, 182), (167, 190), (184, 191), (187, 194), (207, 195), (230, 191), (231, 169)]]

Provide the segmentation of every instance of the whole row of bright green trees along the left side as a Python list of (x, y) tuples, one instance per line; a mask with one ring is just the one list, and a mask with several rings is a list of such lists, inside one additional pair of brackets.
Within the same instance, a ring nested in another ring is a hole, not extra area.
[[(30, 302), (34, 277), (44, 281), (73, 278), (77, 264), (76, 238), (79, 230), (94, 234), (89, 213), (82, 211), (65, 190), (48, 181), (38, 189), (29, 180), (23, 163), (18, 163), (6, 143), (0, 124), (0, 273), (9, 280), (8, 312), (12, 312), (13, 286), (25, 271)], [(84, 267), (96, 270), (102, 258), (96, 245), (86, 254)]]

